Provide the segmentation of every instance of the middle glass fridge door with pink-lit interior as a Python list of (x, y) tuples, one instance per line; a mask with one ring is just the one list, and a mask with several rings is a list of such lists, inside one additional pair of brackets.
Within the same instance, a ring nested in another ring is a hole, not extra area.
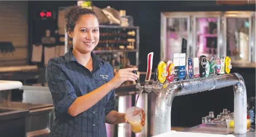
[(199, 12), (193, 15), (192, 56), (220, 56), (221, 12)]

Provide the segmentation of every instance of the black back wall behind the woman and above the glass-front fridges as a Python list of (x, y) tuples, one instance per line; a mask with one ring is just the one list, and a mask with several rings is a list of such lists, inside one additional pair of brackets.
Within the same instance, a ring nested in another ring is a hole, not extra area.
[[(30, 17), (40, 10), (58, 10), (58, 7), (75, 5), (77, 1), (29, 1)], [(215, 0), (198, 1), (93, 1), (97, 7), (114, 7), (116, 10), (126, 10), (126, 15), (134, 17), (135, 26), (140, 26), (140, 65), (139, 71), (147, 69), (147, 54), (154, 52), (153, 67), (160, 61), (160, 12), (171, 11), (225, 11), (225, 10), (255, 10), (255, 5), (217, 6)], [(32, 18), (30, 18), (32, 19)], [(45, 35), (45, 29), (57, 27), (57, 22), (35, 22), (31, 26), (31, 43)], [(33, 38), (32, 38), (33, 37)], [(34, 40), (34, 41), (33, 41)], [(30, 44), (31, 44), (30, 43)], [(154, 70), (154, 69), (152, 69)]]

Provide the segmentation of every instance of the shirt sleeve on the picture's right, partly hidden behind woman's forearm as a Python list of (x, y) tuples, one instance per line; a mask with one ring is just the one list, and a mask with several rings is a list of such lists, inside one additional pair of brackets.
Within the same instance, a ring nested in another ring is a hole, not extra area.
[[(112, 79), (114, 77), (114, 70), (111, 65), (109, 65), (109, 68), (110, 68), (109, 72), (111, 72), (110, 76)], [(105, 115), (108, 115), (109, 112), (111, 112), (111, 111), (116, 111), (116, 90), (113, 89), (111, 92), (109, 93), (109, 94), (111, 94), (111, 96), (110, 96), (109, 101), (107, 102), (106, 107), (105, 107)]]

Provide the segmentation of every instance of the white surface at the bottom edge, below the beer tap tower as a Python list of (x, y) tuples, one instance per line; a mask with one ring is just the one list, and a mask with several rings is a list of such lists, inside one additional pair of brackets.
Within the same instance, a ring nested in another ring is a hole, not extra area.
[(192, 132), (177, 132), (169, 131), (153, 137), (235, 137), (234, 135), (216, 135), (216, 134), (204, 134), (204, 133), (192, 133)]

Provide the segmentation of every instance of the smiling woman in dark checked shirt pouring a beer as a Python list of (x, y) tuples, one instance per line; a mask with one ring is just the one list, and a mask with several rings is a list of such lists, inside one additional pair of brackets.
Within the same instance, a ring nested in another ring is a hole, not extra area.
[(99, 21), (92, 10), (73, 6), (65, 18), (72, 46), (46, 67), (56, 114), (51, 136), (107, 137), (105, 122), (127, 122), (125, 113), (115, 111), (115, 89), (135, 81), (138, 75), (131, 71), (138, 69), (119, 70), (114, 77), (113, 67), (92, 53), (99, 42)]

